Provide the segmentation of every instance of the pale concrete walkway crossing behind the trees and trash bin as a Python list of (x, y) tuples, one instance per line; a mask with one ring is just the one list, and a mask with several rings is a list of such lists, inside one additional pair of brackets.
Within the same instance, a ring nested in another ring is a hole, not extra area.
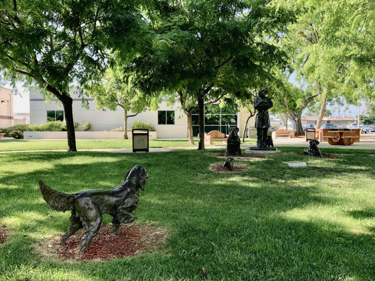
[[(297, 147), (308, 147), (309, 143), (303, 138), (288, 138), (288, 137), (279, 137), (273, 140), (273, 144), (279, 150), (282, 150), (282, 146), (297, 146)], [(255, 145), (241, 145), (241, 148), (249, 148), (250, 146)], [(205, 146), (205, 149), (225, 149), (226, 145), (210, 145)], [(344, 149), (374, 149), (375, 150), (375, 140), (367, 140), (362, 138), (360, 142), (355, 142), (352, 145), (330, 145), (328, 142), (321, 142), (319, 148), (344, 148)], [(186, 150), (196, 150), (196, 146), (188, 147), (167, 147), (167, 148), (150, 148), (149, 152), (166, 152), (177, 149), (186, 149)], [(101, 151), (101, 152), (117, 152), (117, 153), (127, 153), (132, 152), (131, 148), (104, 148), (104, 149), (77, 149), (78, 151)], [(13, 153), (13, 152), (44, 152), (44, 151), (66, 151), (66, 149), (55, 149), (55, 150), (26, 150), (26, 151), (1, 151), (0, 153)]]

